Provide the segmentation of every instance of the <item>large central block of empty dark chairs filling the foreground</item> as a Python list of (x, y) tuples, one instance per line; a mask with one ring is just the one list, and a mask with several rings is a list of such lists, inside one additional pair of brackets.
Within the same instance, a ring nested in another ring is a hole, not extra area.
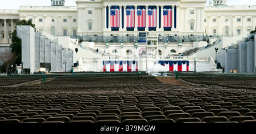
[(1, 87), (0, 122), (256, 122), (256, 93), (181, 87), (151, 76), (57, 78)]

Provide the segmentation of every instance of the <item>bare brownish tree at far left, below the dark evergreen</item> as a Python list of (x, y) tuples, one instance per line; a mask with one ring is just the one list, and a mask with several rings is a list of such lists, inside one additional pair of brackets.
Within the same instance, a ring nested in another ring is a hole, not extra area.
[(8, 73), (9, 68), (13, 65), (18, 57), (11, 53), (11, 50), (6, 50), (0, 54), (0, 60), (3, 62), (3, 67), (6, 70), (6, 74)]

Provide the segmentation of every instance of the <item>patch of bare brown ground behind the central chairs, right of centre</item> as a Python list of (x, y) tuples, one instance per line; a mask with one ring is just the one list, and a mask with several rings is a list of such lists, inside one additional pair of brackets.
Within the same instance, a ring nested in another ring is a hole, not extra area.
[(156, 79), (158, 79), (162, 83), (166, 83), (166, 84), (180, 85), (183, 87), (192, 87), (192, 85), (184, 83), (180, 79), (176, 79), (176, 77), (156, 77)]

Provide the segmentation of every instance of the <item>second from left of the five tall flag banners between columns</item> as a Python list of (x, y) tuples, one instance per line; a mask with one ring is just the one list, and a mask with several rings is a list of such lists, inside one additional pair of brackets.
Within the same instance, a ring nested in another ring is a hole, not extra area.
[(126, 6), (126, 28), (134, 28), (135, 23), (135, 9), (134, 6)]

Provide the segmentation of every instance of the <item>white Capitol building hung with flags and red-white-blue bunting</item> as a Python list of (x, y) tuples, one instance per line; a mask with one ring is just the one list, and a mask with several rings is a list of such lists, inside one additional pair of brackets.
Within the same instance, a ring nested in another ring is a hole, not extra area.
[(120, 71), (113, 64), (126, 63), (121, 71), (129, 71), (131, 61), (136, 66), (130, 71), (146, 71), (159, 63), (167, 71), (216, 72), (216, 50), (249, 36), (256, 26), (256, 6), (229, 6), (232, 1), (227, 0), (206, 3), (77, 0), (73, 7), (51, 0), (51, 6), (1, 9), (0, 52), (9, 48), (16, 23), (25, 19), (64, 49), (77, 48), (77, 71)]

